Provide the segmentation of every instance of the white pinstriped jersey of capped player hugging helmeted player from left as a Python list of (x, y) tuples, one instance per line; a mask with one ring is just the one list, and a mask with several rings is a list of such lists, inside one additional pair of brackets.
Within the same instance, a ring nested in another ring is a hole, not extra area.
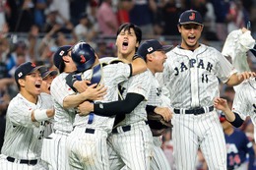
[(63, 108), (63, 100), (66, 96), (74, 94), (73, 89), (66, 84), (67, 73), (61, 73), (51, 83), (50, 93), (55, 108), (54, 130), (70, 133), (73, 130), (75, 109)]

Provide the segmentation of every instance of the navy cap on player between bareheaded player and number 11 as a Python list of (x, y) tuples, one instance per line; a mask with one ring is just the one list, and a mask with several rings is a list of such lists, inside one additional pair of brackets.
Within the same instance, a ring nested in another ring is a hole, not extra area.
[(172, 45), (162, 45), (157, 39), (150, 39), (141, 43), (137, 50), (137, 54), (146, 59), (147, 54), (151, 54), (155, 51), (168, 52), (172, 47)]

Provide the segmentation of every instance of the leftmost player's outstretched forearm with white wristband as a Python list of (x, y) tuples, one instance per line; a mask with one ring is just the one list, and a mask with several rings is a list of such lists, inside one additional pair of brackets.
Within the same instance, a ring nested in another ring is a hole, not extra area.
[(35, 109), (32, 111), (32, 122), (49, 120), (55, 114), (55, 109)]

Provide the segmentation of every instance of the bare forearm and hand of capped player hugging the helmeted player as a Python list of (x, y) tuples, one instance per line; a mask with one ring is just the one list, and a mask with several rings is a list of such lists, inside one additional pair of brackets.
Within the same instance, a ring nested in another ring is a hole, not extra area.
[(88, 86), (87, 90), (82, 93), (68, 95), (65, 97), (63, 101), (63, 107), (74, 108), (85, 100), (102, 100), (105, 94), (106, 87), (104, 87), (104, 85), (90, 85)]

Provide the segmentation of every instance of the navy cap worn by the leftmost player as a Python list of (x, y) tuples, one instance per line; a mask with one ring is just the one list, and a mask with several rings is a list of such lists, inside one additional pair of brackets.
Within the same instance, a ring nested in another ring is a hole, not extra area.
[(21, 64), (15, 71), (14, 77), (15, 77), (15, 81), (18, 85), (18, 80), (19, 79), (23, 79), (25, 78), (27, 75), (34, 73), (35, 71), (37, 71), (41, 66), (36, 66), (34, 63), (32, 62), (27, 62), (27, 63), (23, 63)]

